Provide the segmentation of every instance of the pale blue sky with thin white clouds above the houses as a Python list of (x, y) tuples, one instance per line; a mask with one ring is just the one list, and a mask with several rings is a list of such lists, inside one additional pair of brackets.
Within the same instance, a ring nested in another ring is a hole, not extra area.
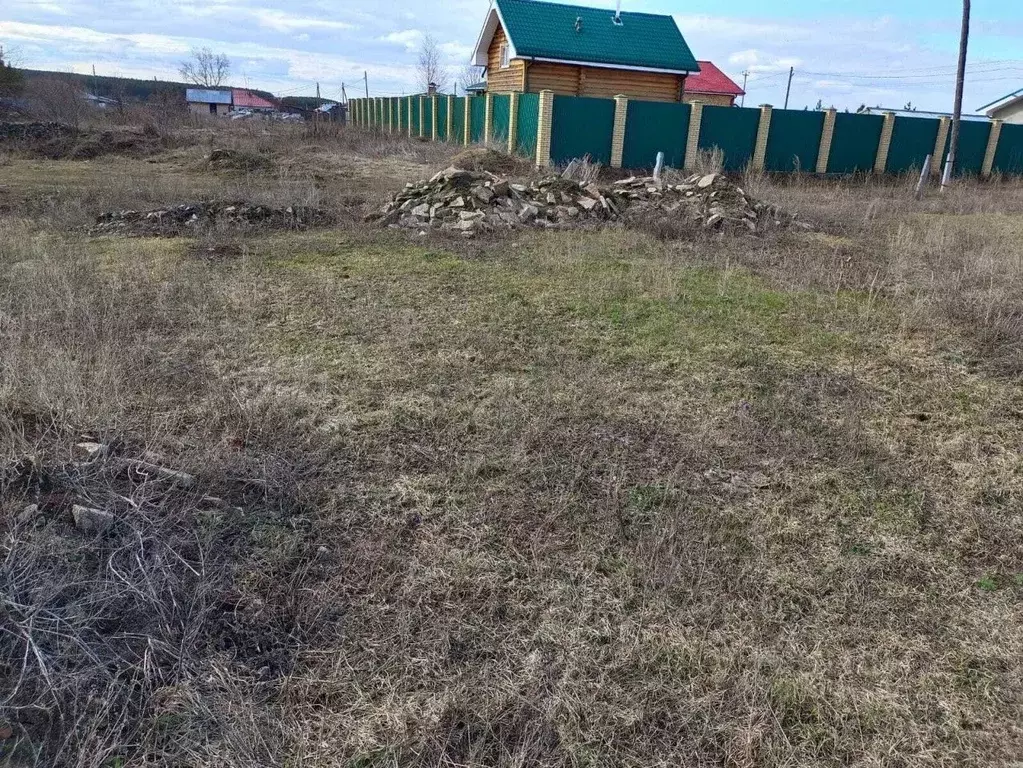
[[(540, 1), (540, 0), (537, 0)], [(671, 13), (697, 58), (740, 85), (746, 106), (947, 111), (960, 0), (621, 0)], [(584, 4), (614, 8), (614, 0)], [(23, 66), (173, 80), (195, 47), (226, 53), (231, 82), (278, 96), (390, 96), (416, 89), (425, 36), (453, 83), (489, 0), (3, 0), (0, 45)], [(1023, 88), (1023, 0), (973, 3), (964, 109)], [(450, 86), (442, 88), (449, 91)]]

